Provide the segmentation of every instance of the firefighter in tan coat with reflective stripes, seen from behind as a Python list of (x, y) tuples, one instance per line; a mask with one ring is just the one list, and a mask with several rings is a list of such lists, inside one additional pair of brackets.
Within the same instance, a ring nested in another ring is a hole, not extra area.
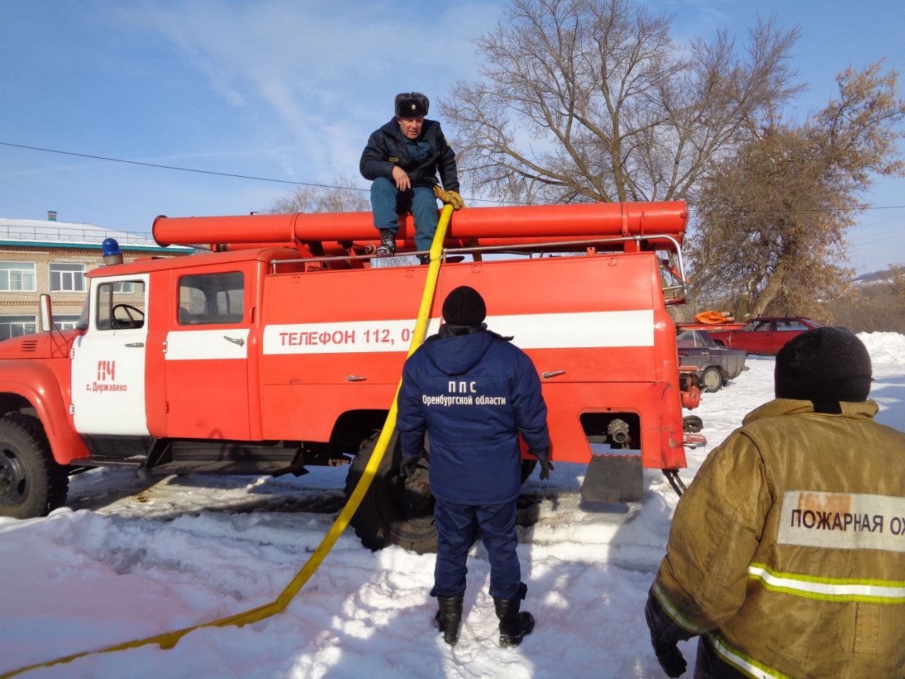
[(685, 493), (644, 610), (657, 660), (700, 635), (695, 677), (905, 677), (905, 434), (873, 422), (848, 330), (776, 356), (776, 400)]

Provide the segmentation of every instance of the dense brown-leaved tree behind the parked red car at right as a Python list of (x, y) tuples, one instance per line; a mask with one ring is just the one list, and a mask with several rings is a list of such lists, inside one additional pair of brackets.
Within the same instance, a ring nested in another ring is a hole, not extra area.
[(805, 123), (774, 122), (704, 182), (691, 239), (693, 289), (737, 317), (809, 313), (847, 293), (846, 229), (873, 177), (902, 174), (898, 73), (837, 77), (838, 98)]

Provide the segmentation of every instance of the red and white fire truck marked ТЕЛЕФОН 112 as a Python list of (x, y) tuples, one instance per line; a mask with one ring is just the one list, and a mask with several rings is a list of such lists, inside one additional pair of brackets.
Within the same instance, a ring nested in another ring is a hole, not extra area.
[[(685, 465), (675, 328), (682, 203), (466, 208), (452, 217), (428, 332), (471, 285), (538, 369), (553, 459), (589, 501), (632, 501), (643, 467)], [(0, 514), (43, 515), (68, 476), (305, 473), (348, 492), (392, 403), (427, 267), (372, 267), (369, 213), (158, 217), (160, 244), (213, 252), (101, 266), (81, 323), (0, 343)], [(414, 250), (400, 218), (398, 252)], [(665, 253), (665, 254), (664, 254)], [(492, 256), (491, 256), (492, 255)], [(526, 256), (529, 255), (529, 256)], [(665, 259), (664, 259), (665, 257)], [(671, 273), (672, 272), (672, 273)], [(665, 290), (665, 294), (664, 294)], [(534, 464), (526, 454), (524, 473)], [(353, 524), (371, 548), (433, 545), (426, 471), (386, 454)]]

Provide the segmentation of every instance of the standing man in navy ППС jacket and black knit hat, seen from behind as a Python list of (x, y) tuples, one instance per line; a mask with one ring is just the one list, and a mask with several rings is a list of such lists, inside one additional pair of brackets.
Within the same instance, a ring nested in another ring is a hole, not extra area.
[(454, 645), (462, 624), (466, 559), (480, 531), (491, 561), (491, 597), (500, 618), (500, 646), (518, 646), (534, 627), (519, 611), (527, 587), (516, 554), (516, 499), (521, 485), (519, 433), (547, 479), (547, 405), (531, 359), (487, 330), (481, 295), (462, 285), (443, 301), (440, 331), (405, 361), (397, 427), (404, 473), (430, 449), (436, 498), (437, 560), (431, 596), (435, 624)]

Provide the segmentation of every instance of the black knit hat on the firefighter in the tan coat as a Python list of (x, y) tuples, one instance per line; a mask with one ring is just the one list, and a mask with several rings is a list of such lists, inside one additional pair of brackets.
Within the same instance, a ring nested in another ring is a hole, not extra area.
[[(791, 339), (776, 354), (776, 398), (814, 401), (815, 410), (839, 412), (839, 401), (867, 400), (871, 356), (851, 330), (825, 326)], [(818, 408), (818, 404), (835, 407)]]

